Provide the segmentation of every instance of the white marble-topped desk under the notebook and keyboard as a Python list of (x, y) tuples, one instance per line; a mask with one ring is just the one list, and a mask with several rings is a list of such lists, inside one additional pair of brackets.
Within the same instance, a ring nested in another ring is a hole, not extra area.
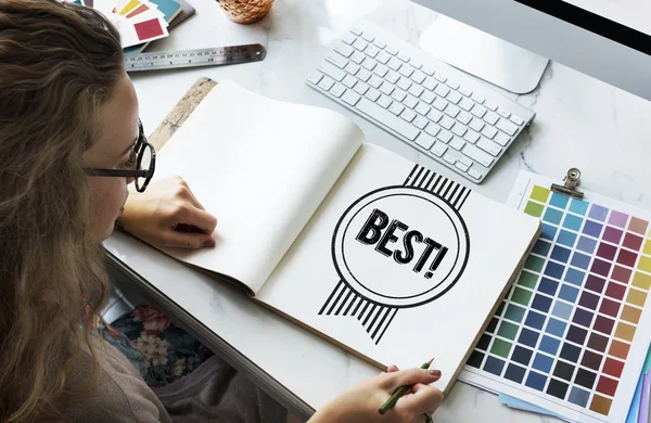
[[(304, 84), (333, 41), (356, 20), (365, 16), (418, 44), (419, 35), (436, 17), (434, 13), (405, 0), (277, 0), (263, 22), (241, 26), (228, 21), (215, 1), (191, 1), (197, 14), (156, 43), (156, 50), (260, 42), (268, 55), (260, 63), (132, 75), (149, 131), (199, 77), (232, 79), (264, 95), (344, 113), (370, 142), (458, 179)], [(651, 176), (647, 164), (651, 157), (651, 103), (559, 64), (551, 64), (540, 87), (519, 97), (518, 102), (537, 112), (534, 125), (486, 181), (473, 189), (503, 202), (521, 168), (560, 178), (570, 167), (578, 167), (585, 189), (651, 208), (651, 189), (646, 183)], [(118, 266), (124, 264), (142, 277), (140, 283), (164, 308), (295, 411), (307, 415), (310, 408), (378, 373), (256, 306), (240, 292), (129, 236), (115, 234), (105, 245), (122, 260)], [(128, 271), (126, 267), (123, 270)], [(436, 421), (542, 422), (549, 418), (510, 410), (494, 395), (458, 383), (437, 411)]]

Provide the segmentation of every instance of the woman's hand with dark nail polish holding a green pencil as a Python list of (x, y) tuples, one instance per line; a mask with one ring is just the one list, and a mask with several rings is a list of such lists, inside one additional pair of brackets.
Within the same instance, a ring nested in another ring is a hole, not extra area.
[[(311, 423), (422, 423), (425, 413), (432, 413), (441, 401), (443, 393), (432, 386), (438, 381), (441, 371), (410, 369), (398, 371), (395, 366), (387, 373), (370, 379), (341, 394), (318, 410), (309, 420)], [(400, 386), (411, 385), (396, 405), (384, 415), (378, 410), (386, 402), (393, 392)]]

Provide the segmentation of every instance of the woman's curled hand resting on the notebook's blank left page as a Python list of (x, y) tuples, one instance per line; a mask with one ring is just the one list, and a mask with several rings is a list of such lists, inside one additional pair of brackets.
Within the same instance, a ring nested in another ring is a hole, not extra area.
[(117, 223), (156, 246), (215, 246), (210, 234), (217, 219), (204, 209), (180, 177), (152, 182), (143, 193), (129, 193)]

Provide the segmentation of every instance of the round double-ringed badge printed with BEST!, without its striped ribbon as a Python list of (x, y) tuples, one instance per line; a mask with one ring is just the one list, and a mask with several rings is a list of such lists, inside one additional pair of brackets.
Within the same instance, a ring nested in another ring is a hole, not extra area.
[(357, 200), (332, 238), (342, 280), (390, 307), (432, 302), (461, 277), (470, 254), (463, 218), (442, 197), (412, 187), (387, 187)]

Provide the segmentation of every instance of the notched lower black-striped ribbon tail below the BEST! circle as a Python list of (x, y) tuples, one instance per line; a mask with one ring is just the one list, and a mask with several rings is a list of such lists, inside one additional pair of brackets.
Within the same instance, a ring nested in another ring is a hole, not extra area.
[(378, 345), (397, 312), (397, 308), (381, 306), (360, 297), (345, 282), (340, 281), (319, 315), (357, 318)]

